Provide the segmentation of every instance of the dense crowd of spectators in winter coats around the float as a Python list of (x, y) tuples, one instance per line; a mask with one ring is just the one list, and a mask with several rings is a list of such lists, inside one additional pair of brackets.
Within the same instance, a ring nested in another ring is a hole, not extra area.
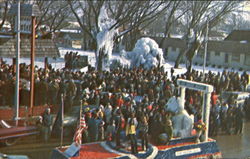
[[(28, 65), (21, 64), (20, 77), (28, 80), (29, 71)], [(227, 134), (242, 133), (243, 117), (250, 114), (249, 100), (243, 106), (237, 106), (233, 100), (219, 100), (222, 91), (244, 91), (249, 82), (246, 72), (242, 75), (238, 72), (209, 72), (204, 77), (198, 71), (175, 76), (174, 69), (164, 72), (162, 68), (117, 68), (110, 72), (91, 70), (83, 73), (67, 68), (44, 70), (36, 67), (34, 75), (35, 105), (60, 105), (63, 94), (65, 111), (69, 112), (74, 105), (83, 101), (88, 125), (88, 130), (84, 133), (85, 142), (115, 140), (119, 147), (119, 132), (126, 129), (131, 143), (137, 145), (134, 134), (140, 130), (140, 136), (147, 148), (149, 136), (158, 136), (163, 132), (171, 136), (171, 113), (164, 110), (164, 105), (170, 97), (176, 95), (176, 81), (179, 78), (214, 86), (210, 135), (217, 135), (221, 131)], [(14, 88), (13, 66), (2, 63), (0, 105), (13, 105)], [(28, 102), (28, 94), (23, 93), (23, 90), (28, 89), (25, 82), (21, 84), (21, 104)], [(136, 98), (138, 96), (141, 98)], [(201, 92), (186, 90), (185, 108), (195, 116), (195, 122), (201, 115), (202, 100)], [(88, 105), (95, 105), (97, 109), (91, 111)], [(137, 148), (134, 147), (133, 153), (136, 152)]]

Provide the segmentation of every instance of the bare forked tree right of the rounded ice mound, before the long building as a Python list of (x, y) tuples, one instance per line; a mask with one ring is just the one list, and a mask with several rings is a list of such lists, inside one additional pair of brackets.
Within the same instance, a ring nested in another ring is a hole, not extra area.
[(186, 22), (183, 23), (187, 26), (186, 35), (184, 36), (187, 48), (178, 55), (175, 68), (179, 67), (181, 58), (186, 55), (190, 64), (188, 71), (190, 71), (193, 57), (202, 44), (206, 20), (209, 19), (211, 29), (223, 20), (226, 15), (238, 9), (240, 4), (240, 1), (186, 1), (183, 5), (187, 7), (188, 11), (185, 14)]

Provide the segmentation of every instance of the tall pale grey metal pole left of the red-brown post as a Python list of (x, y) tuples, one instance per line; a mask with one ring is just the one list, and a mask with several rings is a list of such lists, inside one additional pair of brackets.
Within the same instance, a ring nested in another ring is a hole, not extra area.
[(19, 119), (19, 59), (20, 59), (20, 1), (17, 0), (16, 16), (16, 88), (15, 88), (15, 117), (16, 126)]

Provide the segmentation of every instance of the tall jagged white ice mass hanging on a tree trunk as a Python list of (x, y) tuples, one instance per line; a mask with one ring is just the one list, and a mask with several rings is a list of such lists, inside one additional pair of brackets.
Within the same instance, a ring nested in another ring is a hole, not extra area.
[[(110, 29), (112, 25), (115, 24), (115, 20), (109, 18), (105, 6), (102, 6), (99, 17), (98, 17), (98, 27), (99, 31), (97, 33), (97, 50), (96, 59), (99, 59), (100, 53), (103, 53), (102, 68), (109, 70), (110, 58), (112, 56), (112, 50), (114, 46), (114, 36), (117, 33), (117, 29)], [(96, 60), (96, 67), (98, 60)]]

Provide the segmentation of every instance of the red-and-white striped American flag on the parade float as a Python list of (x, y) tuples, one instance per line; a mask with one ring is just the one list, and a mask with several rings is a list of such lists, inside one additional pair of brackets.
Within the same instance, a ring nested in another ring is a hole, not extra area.
[(79, 121), (79, 124), (77, 126), (77, 129), (76, 129), (76, 132), (75, 132), (75, 135), (74, 135), (74, 142), (78, 145), (81, 145), (82, 144), (82, 131), (87, 129), (87, 125), (86, 125), (86, 122), (85, 122), (85, 117), (84, 115), (81, 115), (80, 117), (80, 121)]

